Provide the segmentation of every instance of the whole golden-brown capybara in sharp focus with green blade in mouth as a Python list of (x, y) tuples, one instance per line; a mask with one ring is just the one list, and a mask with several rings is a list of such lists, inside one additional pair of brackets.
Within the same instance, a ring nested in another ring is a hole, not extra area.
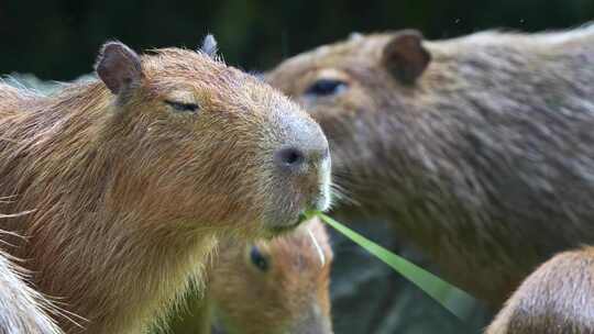
[(328, 204), (320, 127), (206, 52), (103, 45), (98, 79), (38, 96), (0, 85), (0, 212), (33, 282), (87, 320), (138, 333), (183, 292), (217, 236), (273, 236)]

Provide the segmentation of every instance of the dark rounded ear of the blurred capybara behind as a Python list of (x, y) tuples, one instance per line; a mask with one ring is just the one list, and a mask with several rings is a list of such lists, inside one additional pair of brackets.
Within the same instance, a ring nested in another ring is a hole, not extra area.
[(396, 79), (413, 85), (431, 62), (431, 54), (422, 46), (420, 32), (405, 30), (384, 46), (382, 62)]

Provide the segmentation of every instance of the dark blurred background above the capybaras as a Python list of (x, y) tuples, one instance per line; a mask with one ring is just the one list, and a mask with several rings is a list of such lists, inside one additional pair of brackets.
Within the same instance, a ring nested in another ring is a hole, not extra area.
[(0, 0), (0, 74), (69, 80), (92, 68), (99, 46), (195, 47), (215, 33), (229, 64), (266, 69), (353, 31), (416, 27), (443, 38), (491, 27), (570, 27), (594, 0), (138, 1)]

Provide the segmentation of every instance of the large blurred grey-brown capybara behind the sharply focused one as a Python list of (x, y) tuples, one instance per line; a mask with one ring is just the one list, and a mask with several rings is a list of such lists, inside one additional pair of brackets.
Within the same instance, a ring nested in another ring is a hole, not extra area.
[(594, 242), (593, 26), (355, 35), (267, 80), (324, 130), (337, 186), (494, 308)]

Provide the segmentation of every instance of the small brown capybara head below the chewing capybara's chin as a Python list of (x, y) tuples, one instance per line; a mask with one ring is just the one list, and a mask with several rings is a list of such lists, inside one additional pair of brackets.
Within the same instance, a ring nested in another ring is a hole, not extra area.
[(220, 245), (208, 298), (228, 334), (329, 334), (332, 249), (318, 219), (292, 234)]

